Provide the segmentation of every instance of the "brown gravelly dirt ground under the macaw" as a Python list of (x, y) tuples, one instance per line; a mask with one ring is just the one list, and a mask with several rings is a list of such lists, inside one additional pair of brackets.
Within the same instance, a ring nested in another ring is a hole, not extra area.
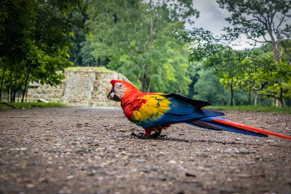
[[(225, 113), (291, 136), (291, 115)], [(186, 124), (167, 138), (130, 132), (143, 129), (119, 109), (0, 110), (0, 194), (291, 194), (291, 141)]]

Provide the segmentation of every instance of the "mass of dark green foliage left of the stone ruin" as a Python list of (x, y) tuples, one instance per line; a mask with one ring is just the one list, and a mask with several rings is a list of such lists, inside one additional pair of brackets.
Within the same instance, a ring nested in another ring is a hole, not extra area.
[[(32, 80), (58, 85), (68, 61), (73, 26), (83, 28), (70, 13), (84, 9), (81, 0), (9, 0), (0, 3), (0, 76), (2, 89), (15, 100), (18, 90), (26, 91)], [(1, 15), (2, 16), (2, 15)], [(1, 92), (0, 92), (1, 96)], [(23, 95), (24, 97), (24, 95)], [(23, 101), (23, 98), (22, 98)]]

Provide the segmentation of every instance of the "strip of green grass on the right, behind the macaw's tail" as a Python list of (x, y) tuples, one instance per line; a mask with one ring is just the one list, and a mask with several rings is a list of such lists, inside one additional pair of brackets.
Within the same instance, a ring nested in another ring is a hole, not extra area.
[(207, 109), (217, 111), (252, 111), (291, 114), (291, 107), (276, 108), (275, 106), (208, 106)]

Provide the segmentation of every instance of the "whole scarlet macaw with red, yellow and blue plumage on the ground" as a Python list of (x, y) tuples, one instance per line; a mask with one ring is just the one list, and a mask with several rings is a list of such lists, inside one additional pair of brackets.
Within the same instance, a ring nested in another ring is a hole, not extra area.
[[(113, 96), (111, 96), (114, 93)], [(128, 81), (112, 80), (106, 88), (108, 99), (120, 101), (120, 105), (129, 121), (145, 129), (146, 134), (134, 136), (139, 138), (162, 136), (162, 129), (171, 124), (187, 123), (196, 127), (212, 130), (226, 130), (245, 135), (267, 137), (274, 135), (284, 139), (290, 136), (257, 129), (217, 117), (224, 113), (202, 109), (209, 102), (193, 100), (178, 94), (143, 93)], [(154, 131), (154, 134), (151, 132)]]

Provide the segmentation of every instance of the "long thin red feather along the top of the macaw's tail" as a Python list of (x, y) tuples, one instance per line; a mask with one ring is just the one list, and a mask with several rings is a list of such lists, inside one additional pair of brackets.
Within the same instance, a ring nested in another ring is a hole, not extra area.
[(268, 130), (264, 130), (264, 129), (253, 128), (253, 127), (242, 125), (242, 124), (235, 123), (235, 122), (232, 122), (232, 121), (218, 120), (218, 119), (213, 119), (212, 121), (215, 121), (217, 123), (223, 123), (223, 124), (230, 125), (230, 126), (234, 126), (234, 127), (240, 128), (240, 129), (250, 130), (250, 131), (254, 131), (254, 132), (263, 133), (263, 134), (266, 134), (266, 135), (273, 135), (273, 136), (277, 136), (277, 137), (281, 137), (281, 138), (284, 138), (284, 139), (291, 140), (291, 137), (287, 136), (287, 135), (274, 133), (274, 132), (271, 132), (271, 131), (268, 131)]

